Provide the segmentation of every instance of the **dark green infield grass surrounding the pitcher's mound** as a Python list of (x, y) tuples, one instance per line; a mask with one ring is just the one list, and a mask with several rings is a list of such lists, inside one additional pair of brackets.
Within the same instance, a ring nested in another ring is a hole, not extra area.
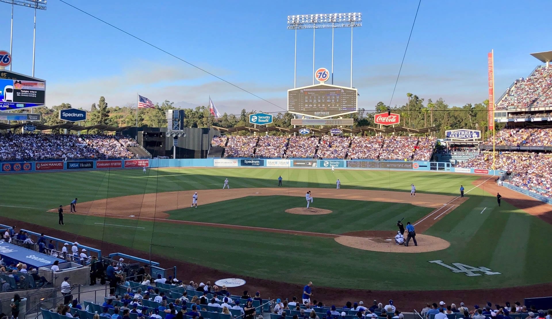
[[(295, 196), (247, 196), (166, 213), (171, 215), (169, 219), (177, 220), (343, 234), (355, 230), (396, 230), (397, 220), (418, 220), (434, 210), (404, 203), (332, 198), (316, 198), (311, 206), (329, 209), (332, 213), (286, 213), (288, 208), (306, 207), (305, 199)], [(233, 215), (229, 216), (230, 212)]]

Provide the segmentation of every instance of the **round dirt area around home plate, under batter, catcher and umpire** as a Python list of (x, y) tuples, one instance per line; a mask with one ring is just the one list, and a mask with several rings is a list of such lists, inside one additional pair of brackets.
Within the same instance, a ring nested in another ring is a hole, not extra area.
[(404, 245), (396, 245), (392, 236), (357, 237), (346, 235), (336, 237), (335, 239), (335, 241), (344, 246), (381, 252), (417, 253), (443, 250), (450, 246), (450, 242), (429, 235), (417, 234), (416, 240), (418, 241), (418, 246), (414, 246), (414, 242), (411, 240), (408, 243), (408, 247), (405, 247)]

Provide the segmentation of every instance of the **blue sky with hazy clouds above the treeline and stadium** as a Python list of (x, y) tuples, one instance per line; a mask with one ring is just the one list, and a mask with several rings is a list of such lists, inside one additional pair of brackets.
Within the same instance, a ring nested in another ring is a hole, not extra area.
[[(353, 86), (359, 107), (388, 104), (417, 1), (77, 1), (67, 2), (219, 75), (267, 104), (112, 27), (49, 0), (37, 18), (35, 76), (47, 81), (46, 104), (89, 108), (100, 95), (110, 106), (153, 102), (206, 105), (220, 112), (286, 108), (293, 88), (291, 14), (362, 12), (355, 28)], [(552, 50), (548, 1), (422, 0), (392, 105), (406, 93), (450, 105), (486, 99), (486, 53), (495, 50), (496, 94), (540, 62), (531, 52)], [(0, 49), (9, 50), (10, 5), (0, 3)], [(13, 71), (30, 74), (33, 10), (14, 10)], [(334, 78), (349, 85), (350, 29), (335, 30)], [(331, 30), (316, 31), (316, 68), (331, 67)], [(298, 86), (312, 84), (312, 30), (298, 32)]]

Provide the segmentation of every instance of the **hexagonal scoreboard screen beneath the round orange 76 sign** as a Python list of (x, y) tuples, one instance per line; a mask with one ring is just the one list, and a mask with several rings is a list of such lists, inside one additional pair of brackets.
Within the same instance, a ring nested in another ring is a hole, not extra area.
[(327, 84), (288, 90), (288, 111), (330, 117), (357, 111), (357, 89)]

